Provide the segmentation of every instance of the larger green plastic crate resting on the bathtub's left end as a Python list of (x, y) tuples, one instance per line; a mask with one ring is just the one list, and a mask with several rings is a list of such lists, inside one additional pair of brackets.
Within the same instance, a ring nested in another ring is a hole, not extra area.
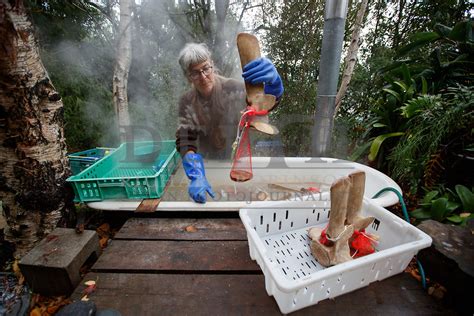
[(160, 198), (179, 161), (174, 140), (124, 143), (67, 181), (76, 202)]

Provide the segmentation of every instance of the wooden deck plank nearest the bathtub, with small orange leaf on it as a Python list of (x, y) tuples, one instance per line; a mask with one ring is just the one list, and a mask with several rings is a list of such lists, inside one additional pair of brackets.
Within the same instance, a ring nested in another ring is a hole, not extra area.
[(244, 225), (238, 218), (130, 218), (114, 238), (142, 240), (247, 240), (247, 233)]

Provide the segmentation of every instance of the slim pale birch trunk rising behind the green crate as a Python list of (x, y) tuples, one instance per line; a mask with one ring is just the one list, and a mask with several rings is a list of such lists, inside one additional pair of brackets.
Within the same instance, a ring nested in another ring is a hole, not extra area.
[[(119, 130), (130, 125), (128, 113), (128, 73), (132, 61), (132, 1), (120, 0), (120, 24), (113, 78), (113, 99)], [(121, 133), (121, 140), (124, 134)]]

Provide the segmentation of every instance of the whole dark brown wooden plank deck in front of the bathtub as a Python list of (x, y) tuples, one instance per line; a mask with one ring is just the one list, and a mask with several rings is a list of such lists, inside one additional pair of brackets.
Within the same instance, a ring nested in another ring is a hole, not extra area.
[[(163, 212), (154, 216), (160, 217), (130, 218), (85, 276), (84, 281), (97, 281), (90, 299), (99, 310), (113, 308), (124, 316), (280, 314), (267, 295), (260, 268), (249, 257), (236, 213), (235, 218), (166, 218)], [(84, 288), (79, 285), (72, 297), (80, 299)], [(402, 273), (293, 313), (361, 314), (453, 312)]]

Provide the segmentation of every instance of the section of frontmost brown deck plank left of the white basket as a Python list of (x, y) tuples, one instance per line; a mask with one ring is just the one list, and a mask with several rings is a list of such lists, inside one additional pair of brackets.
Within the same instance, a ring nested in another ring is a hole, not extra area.
[(90, 299), (98, 309), (113, 308), (123, 316), (279, 313), (262, 275), (90, 273), (84, 280), (97, 280)]

